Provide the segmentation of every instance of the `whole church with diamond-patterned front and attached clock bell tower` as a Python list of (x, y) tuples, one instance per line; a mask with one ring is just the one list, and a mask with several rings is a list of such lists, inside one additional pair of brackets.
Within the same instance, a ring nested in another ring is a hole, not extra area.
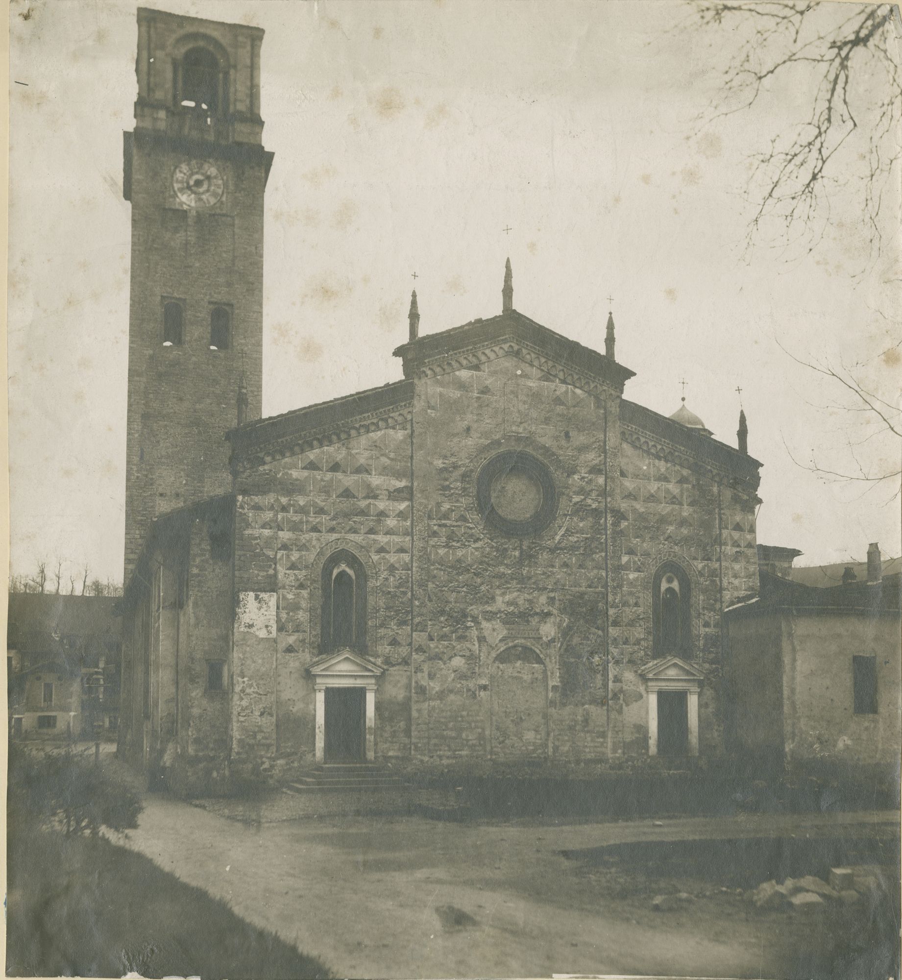
[[(613, 318), (604, 354), (569, 340), (515, 309), (508, 264), (487, 319), (421, 336), (414, 294), (399, 380), (259, 417), (260, 41), (139, 12), (122, 751), (195, 789), (721, 753), (761, 465), (744, 417), (732, 448), (627, 401)], [(225, 236), (221, 280), (146, 256), (182, 228), (188, 253)], [(179, 445), (195, 399), (227, 408)]]

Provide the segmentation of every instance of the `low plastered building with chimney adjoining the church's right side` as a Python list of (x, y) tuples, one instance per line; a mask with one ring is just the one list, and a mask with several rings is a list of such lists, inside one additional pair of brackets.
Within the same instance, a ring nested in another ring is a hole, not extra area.
[(767, 570), (768, 555), (760, 594), (727, 609), (737, 752), (898, 763), (902, 575), (882, 574), (876, 544), (868, 555), (867, 563), (852, 564), (862, 577), (846, 575), (844, 583), (843, 565), (777, 575)]

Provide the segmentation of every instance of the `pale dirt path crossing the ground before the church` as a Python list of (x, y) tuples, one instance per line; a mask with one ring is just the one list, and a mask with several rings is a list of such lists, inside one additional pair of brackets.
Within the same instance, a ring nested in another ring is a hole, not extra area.
[[(859, 833), (898, 814), (577, 826), (325, 818), (249, 826), (149, 797), (126, 846), (341, 976), (779, 976), (804, 931), (738, 900), (667, 914), (605, 894), (559, 853), (608, 843)], [(732, 898), (732, 897), (730, 897)], [(703, 914), (701, 914), (703, 913)]]

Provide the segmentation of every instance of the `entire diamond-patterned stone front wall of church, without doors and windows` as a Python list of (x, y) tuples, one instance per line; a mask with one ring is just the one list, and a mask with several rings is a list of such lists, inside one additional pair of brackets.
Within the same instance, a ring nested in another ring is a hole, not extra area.
[[(756, 587), (757, 465), (642, 416), (617, 384), (566, 383), (566, 367), (514, 344), (482, 353), (416, 373), (398, 406), (338, 419), (316, 448), (303, 430), (247, 436), (223, 581), (273, 613), (233, 630), (245, 760), (316, 758), (310, 668), (334, 650), (339, 565), (354, 576), (350, 642), (381, 671), (376, 760), (646, 755), (665, 567), (686, 597), (680, 657), (703, 675), (699, 752), (723, 751), (722, 611)], [(548, 474), (540, 530), (505, 533), (480, 510), (481, 467), (512, 451)]]

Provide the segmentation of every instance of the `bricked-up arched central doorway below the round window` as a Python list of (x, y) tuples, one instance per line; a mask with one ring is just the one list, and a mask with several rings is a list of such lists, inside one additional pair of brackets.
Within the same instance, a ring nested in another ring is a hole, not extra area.
[(526, 646), (502, 650), (489, 670), (491, 756), (496, 760), (548, 755), (548, 673)]

